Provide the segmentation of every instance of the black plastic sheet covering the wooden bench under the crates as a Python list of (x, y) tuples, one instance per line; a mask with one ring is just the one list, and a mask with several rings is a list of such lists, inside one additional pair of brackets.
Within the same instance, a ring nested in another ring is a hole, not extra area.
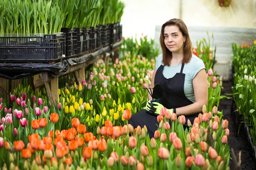
[(99, 54), (111, 51), (117, 46), (120, 46), (121, 43), (122, 40), (116, 42), (113, 45), (108, 45), (106, 47), (100, 48), (99, 50), (92, 53), (84, 54), (79, 57), (62, 59), (61, 61), (52, 64), (0, 62), (0, 77), (4, 79), (23, 79), (34, 76), (36, 74), (40, 74), (42, 72), (47, 72), (51, 79), (55, 77), (60, 77), (66, 74), (68, 67), (74, 64), (80, 64), (97, 59), (99, 57)]

